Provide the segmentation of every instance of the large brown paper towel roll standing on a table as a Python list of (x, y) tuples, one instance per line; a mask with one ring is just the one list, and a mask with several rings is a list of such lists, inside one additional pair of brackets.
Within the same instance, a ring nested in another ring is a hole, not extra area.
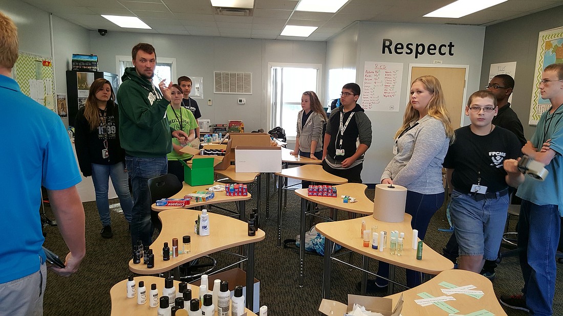
[(373, 199), (373, 217), (382, 222), (403, 222), (405, 216), (406, 188), (395, 184), (377, 184)]

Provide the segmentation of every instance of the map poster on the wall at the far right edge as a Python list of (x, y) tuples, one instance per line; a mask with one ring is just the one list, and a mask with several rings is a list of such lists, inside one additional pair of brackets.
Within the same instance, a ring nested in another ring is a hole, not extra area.
[(551, 103), (539, 94), (539, 80), (543, 69), (554, 63), (563, 63), (563, 26), (539, 32), (538, 52), (535, 57), (534, 86), (531, 92), (530, 125), (537, 125), (543, 112), (549, 110)]

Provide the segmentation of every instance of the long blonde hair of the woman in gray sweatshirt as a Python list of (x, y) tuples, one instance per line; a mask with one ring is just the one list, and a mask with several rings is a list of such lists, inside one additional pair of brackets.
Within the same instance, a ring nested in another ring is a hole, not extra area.
[[(452, 120), (450, 120), (450, 115), (448, 114), (448, 109), (446, 109), (445, 101), (444, 101), (444, 93), (442, 92), (442, 86), (440, 81), (435, 76), (420, 76), (417, 79), (414, 79), (413, 83), (410, 84), (412, 87), (415, 82), (421, 82), (425, 89), (432, 93), (432, 98), (430, 102), (428, 102), (428, 106), (426, 107), (428, 111), (428, 115), (432, 116), (444, 124), (444, 129), (446, 131), (446, 136), (450, 139), (450, 143), (454, 141), (455, 133), (454, 128), (452, 127)], [(403, 126), (397, 130), (395, 134), (395, 138), (399, 137), (401, 133), (405, 129), (409, 128), (409, 124), (413, 121), (417, 121), (419, 119), (419, 113), (417, 110), (414, 109), (412, 103), (406, 105), (405, 115), (403, 116)]]

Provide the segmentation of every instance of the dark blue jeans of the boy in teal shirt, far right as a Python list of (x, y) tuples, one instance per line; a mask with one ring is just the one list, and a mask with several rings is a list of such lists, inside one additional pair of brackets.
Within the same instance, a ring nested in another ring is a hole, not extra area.
[(524, 296), (530, 315), (552, 315), (555, 295), (555, 252), (561, 219), (557, 205), (522, 200), (518, 219), (518, 252)]

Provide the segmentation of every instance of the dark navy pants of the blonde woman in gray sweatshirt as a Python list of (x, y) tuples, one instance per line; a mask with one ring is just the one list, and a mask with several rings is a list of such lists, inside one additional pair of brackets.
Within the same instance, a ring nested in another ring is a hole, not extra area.
[[(432, 219), (434, 213), (436, 213), (443, 203), (444, 192), (437, 194), (421, 194), (413, 191), (406, 191), (405, 213), (413, 216), (413, 219), (410, 220), (410, 225), (413, 229), (418, 229), (418, 238), (421, 240), (424, 240), (430, 219)], [(409, 232), (404, 233), (408, 234)], [(422, 273), (420, 272), (406, 269), (406, 286), (415, 287), (421, 285), (421, 274)], [(389, 264), (379, 261), (377, 275), (388, 278)], [(387, 283), (388, 282), (384, 279), (377, 279), (377, 284), (380, 286), (385, 286)]]

